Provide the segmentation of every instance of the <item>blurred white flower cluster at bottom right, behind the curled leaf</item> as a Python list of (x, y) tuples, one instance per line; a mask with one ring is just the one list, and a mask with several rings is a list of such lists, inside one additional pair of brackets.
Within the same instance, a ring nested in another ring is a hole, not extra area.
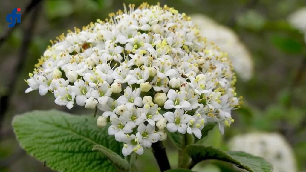
[(230, 140), (230, 149), (261, 156), (270, 162), (274, 172), (297, 172), (293, 150), (277, 133), (249, 133)]

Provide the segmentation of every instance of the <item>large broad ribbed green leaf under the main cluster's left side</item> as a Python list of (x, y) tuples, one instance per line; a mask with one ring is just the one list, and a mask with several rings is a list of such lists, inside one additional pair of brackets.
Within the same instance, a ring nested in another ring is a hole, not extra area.
[(116, 171), (116, 166), (92, 147), (101, 144), (121, 155), (122, 144), (107, 134), (108, 126), (98, 128), (92, 116), (33, 111), (16, 116), (13, 127), (21, 147), (53, 170)]

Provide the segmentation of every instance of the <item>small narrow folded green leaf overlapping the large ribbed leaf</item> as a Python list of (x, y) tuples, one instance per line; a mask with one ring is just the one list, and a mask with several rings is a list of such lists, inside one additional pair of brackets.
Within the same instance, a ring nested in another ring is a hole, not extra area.
[(93, 151), (102, 152), (118, 169), (123, 171), (128, 171), (130, 169), (130, 164), (125, 159), (121, 158), (118, 154), (111, 151), (110, 149), (105, 148), (102, 145), (96, 144), (93, 148)]

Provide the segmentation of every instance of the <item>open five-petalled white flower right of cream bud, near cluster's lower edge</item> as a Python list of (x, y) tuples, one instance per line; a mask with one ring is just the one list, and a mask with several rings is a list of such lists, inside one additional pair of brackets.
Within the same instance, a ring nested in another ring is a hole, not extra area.
[(184, 114), (184, 110), (175, 109), (173, 112), (166, 112), (163, 114), (167, 119), (167, 130), (171, 133), (179, 132), (185, 134), (187, 132), (187, 123), (192, 120), (192, 117), (188, 114)]

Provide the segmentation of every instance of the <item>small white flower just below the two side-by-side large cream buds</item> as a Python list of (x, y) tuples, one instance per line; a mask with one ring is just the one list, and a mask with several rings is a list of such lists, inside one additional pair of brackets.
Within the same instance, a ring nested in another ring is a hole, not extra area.
[(162, 119), (162, 115), (159, 114), (160, 107), (158, 107), (157, 104), (154, 104), (153, 106), (150, 106), (148, 104), (144, 105), (144, 110), (143, 110), (143, 116), (145, 119), (147, 119), (147, 122), (155, 126), (155, 121), (158, 121)]

